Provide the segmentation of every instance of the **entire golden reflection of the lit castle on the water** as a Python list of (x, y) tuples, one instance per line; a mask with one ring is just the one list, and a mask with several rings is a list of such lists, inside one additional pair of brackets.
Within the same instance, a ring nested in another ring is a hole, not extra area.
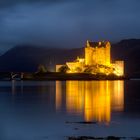
[(124, 81), (56, 81), (56, 109), (109, 123), (112, 111), (124, 109)]

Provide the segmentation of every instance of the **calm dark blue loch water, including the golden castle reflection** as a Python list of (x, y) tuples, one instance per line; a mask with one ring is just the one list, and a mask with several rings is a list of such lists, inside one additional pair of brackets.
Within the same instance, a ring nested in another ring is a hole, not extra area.
[(140, 137), (140, 81), (0, 82), (1, 140), (110, 135)]

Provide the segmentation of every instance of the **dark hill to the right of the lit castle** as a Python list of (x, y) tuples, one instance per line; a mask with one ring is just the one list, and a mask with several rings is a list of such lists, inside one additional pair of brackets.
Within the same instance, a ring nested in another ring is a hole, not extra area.
[(126, 39), (112, 44), (112, 58), (125, 61), (126, 74), (140, 74), (140, 39)]

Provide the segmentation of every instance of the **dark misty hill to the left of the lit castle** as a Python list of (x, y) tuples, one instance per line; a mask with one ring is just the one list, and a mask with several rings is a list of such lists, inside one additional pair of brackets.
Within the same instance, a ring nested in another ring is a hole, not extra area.
[(83, 56), (83, 53), (83, 48), (16, 46), (0, 56), (0, 71), (34, 72), (39, 64), (52, 70), (56, 64), (73, 61), (77, 56)]

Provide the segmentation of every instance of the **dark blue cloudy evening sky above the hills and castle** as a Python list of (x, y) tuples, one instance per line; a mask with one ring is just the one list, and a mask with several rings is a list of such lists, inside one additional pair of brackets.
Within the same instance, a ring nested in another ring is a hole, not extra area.
[(140, 0), (1, 0), (0, 50), (140, 38)]

